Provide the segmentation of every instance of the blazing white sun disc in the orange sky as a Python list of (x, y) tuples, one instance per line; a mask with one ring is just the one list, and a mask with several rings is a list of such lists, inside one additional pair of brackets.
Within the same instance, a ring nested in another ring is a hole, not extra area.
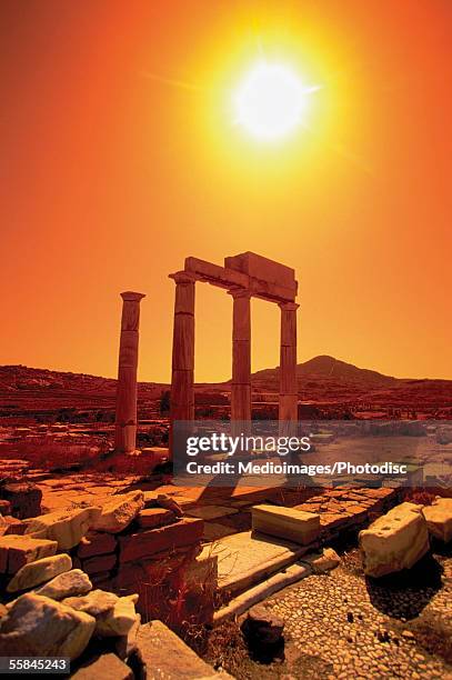
[(285, 137), (302, 122), (309, 92), (289, 67), (259, 62), (235, 92), (237, 122), (258, 139)]

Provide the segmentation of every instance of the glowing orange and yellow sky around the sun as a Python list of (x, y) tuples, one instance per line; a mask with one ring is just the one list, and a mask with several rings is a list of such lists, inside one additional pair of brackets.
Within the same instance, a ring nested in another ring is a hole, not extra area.
[[(449, 0), (2, 0), (0, 363), (114, 376), (121, 290), (140, 378), (170, 376), (193, 254), (294, 267), (299, 359), (452, 378)], [(268, 147), (229, 109), (264, 53), (320, 84)], [(279, 310), (253, 302), (253, 369)], [(198, 380), (230, 376), (231, 299), (198, 286)]]

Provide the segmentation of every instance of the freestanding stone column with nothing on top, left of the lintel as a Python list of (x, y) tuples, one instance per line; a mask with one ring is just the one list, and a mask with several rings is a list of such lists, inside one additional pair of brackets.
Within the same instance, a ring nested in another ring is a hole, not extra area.
[(114, 448), (131, 453), (137, 446), (137, 368), (140, 301), (143, 293), (121, 293), (122, 317), (119, 343)]

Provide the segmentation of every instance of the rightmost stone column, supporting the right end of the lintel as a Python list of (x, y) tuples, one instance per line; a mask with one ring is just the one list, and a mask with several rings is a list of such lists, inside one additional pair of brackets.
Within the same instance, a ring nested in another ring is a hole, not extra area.
[(298, 420), (297, 310), (295, 302), (281, 302), (280, 420)]

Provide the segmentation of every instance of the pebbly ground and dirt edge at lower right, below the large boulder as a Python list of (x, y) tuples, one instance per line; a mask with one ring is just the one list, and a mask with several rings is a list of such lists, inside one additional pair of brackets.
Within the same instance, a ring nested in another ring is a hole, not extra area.
[[(210, 660), (217, 656), (248, 680), (452, 678), (451, 551), (425, 560), (410, 574), (376, 583), (364, 579), (353, 549), (329, 574), (311, 576), (267, 600), (269, 612), (285, 624), (285, 648), (275, 660), (250, 660), (232, 624), (214, 632)], [(231, 656), (219, 651), (221, 636), (232, 640)]]

